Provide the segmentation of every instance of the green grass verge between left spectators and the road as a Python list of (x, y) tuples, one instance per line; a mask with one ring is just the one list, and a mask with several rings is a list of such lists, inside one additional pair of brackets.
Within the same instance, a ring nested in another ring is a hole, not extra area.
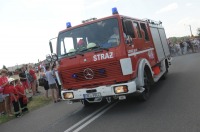
[[(33, 111), (35, 109), (38, 109), (42, 106), (49, 104), (50, 102), (52, 102), (51, 98), (47, 99), (44, 96), (34, 96), (34, 97), (32, 97), (31, 101), (28, 103), (28, 109), (29, 109), (29, 111)], [(2, 116), (0, 116), (0, 124), (10, 121), (14, 118), (15, 117), (9, 117), (8, 115), (2, 115)]]

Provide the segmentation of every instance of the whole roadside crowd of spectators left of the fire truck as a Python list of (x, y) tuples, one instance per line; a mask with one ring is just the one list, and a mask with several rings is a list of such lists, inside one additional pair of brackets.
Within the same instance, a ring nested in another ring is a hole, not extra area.
[(51, 96), (54, 103), (61, 99), (61, 85), (56, 78), (56, 64), (39, 64), (35, 67), (23, 65), (18, 69), (19, 79), (11, 78), (6, 69), (0, 70), (0, 115), (20, 117), (28, 111), (27, 94), (35, 96), (38, 91), (38, 80), (43, 80), (45, 97), (49, 98), (48, 91), (51, 90)]

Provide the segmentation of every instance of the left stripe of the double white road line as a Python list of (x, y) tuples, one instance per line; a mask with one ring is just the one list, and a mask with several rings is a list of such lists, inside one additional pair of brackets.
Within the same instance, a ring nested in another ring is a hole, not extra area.
[(88, 120), (89, 118), (91, 118), (92, 116), (96, 115), (97, 113), (99, 113), (101, 110), (103, 110), (104, 108), (106, 108), (109, 104), (104, 105), (103, 107), (101, 107), (100, 109), (94, 111), (93, 113), (91, 113), (90, 115), (88, 115), (87, 117), (85, 117), (84, 119), (80, 120), (79, 122), (77, 122), (76, 124), (74, 124), (73, 126), (71, 126), (70, 128), (68, 128), (67, 130), (65, 130), (64, 132), (70, 132), (71, 130), (73, 130), (74, 128), (76, 128), (77, 126), (81, 125), (83, 122), (85, 122), (86, 120)]

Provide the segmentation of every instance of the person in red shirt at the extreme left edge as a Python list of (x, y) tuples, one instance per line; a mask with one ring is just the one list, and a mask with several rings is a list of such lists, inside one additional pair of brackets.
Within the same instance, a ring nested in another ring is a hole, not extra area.
[(13, 116), (11, 113), (11, 103), (10, 103), (10, 88), (9, 88), (9, 82), (7, 77), (8, 71), (5, 69), (2, 69), (0, 71), (1, 77), (0, 77), (0, 87), (3, 88), (3, 96), (5, 101), (5, 111), (8, 114), (8, 116)]

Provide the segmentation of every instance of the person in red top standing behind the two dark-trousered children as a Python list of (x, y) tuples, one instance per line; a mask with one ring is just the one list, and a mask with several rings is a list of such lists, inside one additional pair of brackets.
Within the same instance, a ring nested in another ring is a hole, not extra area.
[(30, 82), (30, 84), (31, 84), (31, 88), (32, 88), (32, 91), (33, 91), (33, 95), (35, 95), (37, 77), (36, 77), (36, 74), (35, 74), (35, 71), (34, 71), (33, 67), (31, 65), (29, 65), (28, 68), (29, 68), (29, 70), (28, 70), (29, 74), (33, 77), (33, 81)]

